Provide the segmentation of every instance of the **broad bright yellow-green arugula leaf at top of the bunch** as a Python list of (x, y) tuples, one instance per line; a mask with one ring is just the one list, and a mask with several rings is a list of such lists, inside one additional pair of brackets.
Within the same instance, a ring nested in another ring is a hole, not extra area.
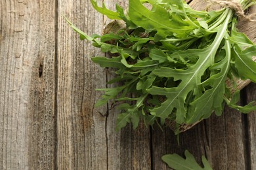
[[(184, 12), (181, 1), (173, 1), (171, 5), (175, 5)], [(128, 16), (137, 26), (143, 27), (147, 31), (158, 31), (157, 35), (163, 39), (167, 35), (186, 37), (196, 28), (196, 25), (183, 20), (181, 16), (177, 15), (177, 12), (170, 14), (158, 3), (154, 4), (153, 8), (154, 10), (148, 10), (139, 0), (129, 0)]]

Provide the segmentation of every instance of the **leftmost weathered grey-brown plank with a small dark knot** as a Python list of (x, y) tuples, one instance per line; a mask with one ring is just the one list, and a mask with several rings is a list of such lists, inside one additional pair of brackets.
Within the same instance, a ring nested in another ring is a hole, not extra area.
[(0, 11), (0, 169), (53, 169), (54, 1)]

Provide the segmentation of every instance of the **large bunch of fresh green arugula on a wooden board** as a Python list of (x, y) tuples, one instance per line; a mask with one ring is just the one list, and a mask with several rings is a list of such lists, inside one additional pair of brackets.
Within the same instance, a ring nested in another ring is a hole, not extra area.
[[(243, 10), (256, 3), (239, 2)], [(119, 5), (112, 11), (104, 4), (98, 7), (95, 0), (91, 3), (127, 25), (117, 33), (90, 37), (68, 21), (81, 39), (110, 54), (92, 60), (116, 75), (108, 84), (119, 86), (97, 89), (104, 95), (96, 106), (112, 101), (123, 110), (117, 130), (130, 122), (136, 128), (140, 120), (146, 125), (158, 120), (194, 124), (213, 111), (221, 115), (224, 103), (245, 113), (256, 110), (254, 103), (236, 105), (239, 93), (232, 98), (225, 84), (233, 77), (256, 82), (256, 45), (238, 32), (232, 9), (207, 12), (193, 10), (182, 0), (129, 0), (125, 14)]]

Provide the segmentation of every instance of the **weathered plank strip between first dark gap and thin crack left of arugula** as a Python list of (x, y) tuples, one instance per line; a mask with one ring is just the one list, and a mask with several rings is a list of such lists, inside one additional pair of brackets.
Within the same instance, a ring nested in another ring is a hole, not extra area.
[[(88, 35), (103, 29), (90, 1), (59, 1), (58, 13)], [(95, 88), (106, 87), (106, 73), (91, 61), (98, 55), (58, 16), (58, 169), (107, 169), (106, 118), (100, 114), (107, 109), (94, 107), (100, 95)]]

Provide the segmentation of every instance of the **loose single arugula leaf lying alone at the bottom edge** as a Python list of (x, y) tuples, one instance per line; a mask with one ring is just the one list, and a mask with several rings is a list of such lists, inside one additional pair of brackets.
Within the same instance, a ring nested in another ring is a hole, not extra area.
[(167, 163), (167, 165), (173, 169), (177, 170), (212, 170), (209, 162), (204, 156), (202, 156), (203, 168), (198, 165), (194, 156), (185, 150), (184, 152), (186, 159), (182, 158), (178, 154), (167, 154), (162, 156), (162, 160)]

